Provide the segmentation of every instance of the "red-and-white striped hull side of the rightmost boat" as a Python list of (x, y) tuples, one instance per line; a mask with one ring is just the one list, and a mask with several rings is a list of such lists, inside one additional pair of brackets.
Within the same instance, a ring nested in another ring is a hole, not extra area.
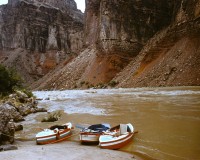
[(119, 149), (127, 145), (132, 140), (132, 138), (133, 138), (133, 133), (129, 133), (123, 138), (117, 138), (117, 139), (113, 138), (113, 140), (107, 142), (101, 142), (100, 139), (99, 146), (104, 149)]

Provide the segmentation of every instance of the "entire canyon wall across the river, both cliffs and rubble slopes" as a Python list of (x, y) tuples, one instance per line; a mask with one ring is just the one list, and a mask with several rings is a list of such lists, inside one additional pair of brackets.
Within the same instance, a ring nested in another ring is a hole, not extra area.
[(0, 63), (34, 90), (200, 85), (200, 0), (9, 0)]

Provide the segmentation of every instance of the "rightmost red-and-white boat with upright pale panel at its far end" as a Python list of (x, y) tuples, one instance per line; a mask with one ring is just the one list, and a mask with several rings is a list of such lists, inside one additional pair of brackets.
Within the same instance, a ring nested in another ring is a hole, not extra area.
[(117, 125), (99, 137), (99, 146), (105, 149), (120, 149), (132, 140), (134, 133), (134, 127), (130, 123)]

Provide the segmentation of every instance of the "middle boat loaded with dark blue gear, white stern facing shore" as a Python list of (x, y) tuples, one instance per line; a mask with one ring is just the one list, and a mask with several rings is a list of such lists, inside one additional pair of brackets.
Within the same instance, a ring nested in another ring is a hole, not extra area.
[(110, 129), (109, 124), (94, 124), (89, 127), (83, 128), (80, 135), (81, 143), (99, 143), (99, 137), (106, 130)]

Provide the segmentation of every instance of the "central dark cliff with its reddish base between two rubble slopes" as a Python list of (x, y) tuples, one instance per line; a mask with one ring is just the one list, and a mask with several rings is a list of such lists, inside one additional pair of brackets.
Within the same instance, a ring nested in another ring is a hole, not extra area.
[(109, 83), (155, 33), (170, 24), (174, 6), (170, 0), (86, 0), (85, 44), (95, 48), (97, 56), (81, 81)]

